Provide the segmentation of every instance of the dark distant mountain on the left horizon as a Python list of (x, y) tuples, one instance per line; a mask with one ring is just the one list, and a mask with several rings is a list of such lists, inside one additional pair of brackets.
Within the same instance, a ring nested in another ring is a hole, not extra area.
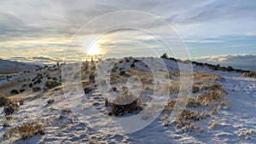
[(41, 66), (24, 64), (18, 61), (0, 59), (0, 74), (10, 74), (33, 70)]

